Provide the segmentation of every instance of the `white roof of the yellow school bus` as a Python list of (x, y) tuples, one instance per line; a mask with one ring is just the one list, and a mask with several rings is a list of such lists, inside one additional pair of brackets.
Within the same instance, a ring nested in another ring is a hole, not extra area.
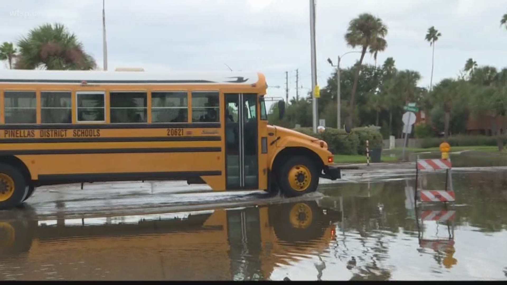
[(256, 72), (111, 72), (78, 70), (0, 70), (2, 83), (45, 84), (254, 84)]

